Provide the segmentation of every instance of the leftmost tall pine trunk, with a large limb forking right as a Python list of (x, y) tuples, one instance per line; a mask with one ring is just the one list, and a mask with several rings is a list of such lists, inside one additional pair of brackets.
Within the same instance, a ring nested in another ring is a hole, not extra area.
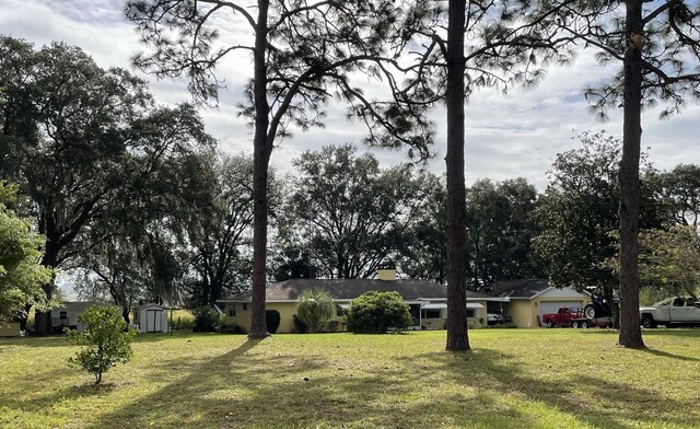
[(265, 338), (265, 292), (267, 264), (267, 171), (272, 152), (268, 138), (269, 105), (267, 101), (267, 14), (269, 0), (258, 0), (255, 34), (253, 98), (255, 104), (255, 137), (253, 140), (253, 297), (248, 338)]

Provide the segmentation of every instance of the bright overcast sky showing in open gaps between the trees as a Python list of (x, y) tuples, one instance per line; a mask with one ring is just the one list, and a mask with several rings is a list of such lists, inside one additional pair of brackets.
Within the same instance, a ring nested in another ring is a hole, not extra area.
[[(37, 46), (51, 40), (65, 40), (82, 47), (103, 67), (130, 68), (151, 82), (161, 103), (189, 101), (185, 80), (155, 81), (130, 67), (130, 57), (141, 49), (133, 26), (121, 14), (121, 0), (0, 0), (0, 33), (25, 38)], [(231, 28), (233, 35), (245, 28)], [(244, 67), (242, 67), (244, 65)], [(229, 58), (220, 67), (228, 89), (221, 93), (218, 109), (202, 111), (207, 129), (221, 148), (229, 152), (252, 152), (252, 134), (236, 117), (235, 103), (252, 61)], [(581, 56), (574, 66), (550, 69), (535, 90), (482, 90), (471, 96), (467, 106), (467, 183), (489, 177), (503, 181), (524, 176), (540, 190), (547, 184), (546, 172), (555, 155), (578, 147), (576, 134), (605, 129), (621, 137), (621, 115), (610, 113), (610, 120), (600, 124), (588, 114), (582, 89), (607, 79), (614, 69), (599, 67), (591, 55)], [(336, 115), (337, 113), (337, 115)], [(329, 106), (327, 126), (310, 132), (295, 132), (272, 154), (272, 164), (282, 172), (291, 171), (291, 160), (301, 152), (325, 144), (354, 142), (360, 144), (363, 129), (342, 120), (341, 111)], [(657, 169), (672, 169), (678, 163), (700, 163), (696, 143), (700, 131), (700, 106), (690, 104), (681, 116), (658, 121), (657, 113), (644, 117), (643, 142), (651, 148), (651, 161)], [(445, 114), (436, 109), (438, 156), (428, 169), (442, 173), (445, 153)], [(405, 154), (375, 151), (383, 165), (405, 161)]]

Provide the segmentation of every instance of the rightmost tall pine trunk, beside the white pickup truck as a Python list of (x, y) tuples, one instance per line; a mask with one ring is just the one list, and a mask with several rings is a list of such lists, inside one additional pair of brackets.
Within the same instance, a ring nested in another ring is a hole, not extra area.
[(620, 337), (623, 347), (642, 348), (639, 326), (639, 159), (642, 139), (642, 0), (627, 0), (625, 121), (620, 163)]

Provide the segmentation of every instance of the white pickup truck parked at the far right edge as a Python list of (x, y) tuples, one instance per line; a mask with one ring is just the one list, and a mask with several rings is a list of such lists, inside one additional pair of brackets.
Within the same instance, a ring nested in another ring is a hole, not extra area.
[(644, 327), (656, 325), (700, 325), (700, 301), (697, 298), (674, 297), (639, 309), (640, 323)]

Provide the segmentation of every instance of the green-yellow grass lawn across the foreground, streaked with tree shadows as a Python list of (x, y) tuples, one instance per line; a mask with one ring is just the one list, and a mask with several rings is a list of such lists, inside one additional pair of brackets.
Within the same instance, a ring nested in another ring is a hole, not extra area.
[(63, 338), (0, 340), (0, 427), (700, 427), (700, 329), (140, 335), (93, 387)]

